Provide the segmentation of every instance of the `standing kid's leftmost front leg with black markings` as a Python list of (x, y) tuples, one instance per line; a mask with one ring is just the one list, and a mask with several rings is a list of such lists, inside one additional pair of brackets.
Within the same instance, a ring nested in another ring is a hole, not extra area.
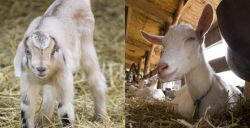
[(36, 98), (39, 94), (39, 85), (30, 85), (21, 79), (21, 119), (22, 128), (34, 128)]

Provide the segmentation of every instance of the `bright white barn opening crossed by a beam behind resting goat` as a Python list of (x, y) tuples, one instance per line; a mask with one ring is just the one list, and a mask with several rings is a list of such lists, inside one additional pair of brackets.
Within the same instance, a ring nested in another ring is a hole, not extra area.
[[(214, 60), (219, 57), (226, 56), (227, 44), (224, 40), (220, 40), (214, 45), (204, 50), (206, 61)], [(217, 73), (226, 83), (234, 86), (244, 86), (245, 81), (236, 76), (231, 70)]]

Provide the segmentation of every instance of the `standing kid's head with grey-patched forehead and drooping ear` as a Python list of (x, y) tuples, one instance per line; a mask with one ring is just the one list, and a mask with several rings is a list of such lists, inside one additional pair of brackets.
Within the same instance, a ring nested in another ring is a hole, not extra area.
[(43, 79), (55, 66), (55, 53), (59, 47), (48, 33), (35, 31), (20, 43), (14, 59), (15, 74), (21, 76), (22, 68), (27, 67), (36, 77)]

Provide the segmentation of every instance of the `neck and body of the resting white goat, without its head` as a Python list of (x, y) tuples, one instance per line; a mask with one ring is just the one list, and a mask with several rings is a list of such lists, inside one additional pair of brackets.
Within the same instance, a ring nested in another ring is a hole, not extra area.
[(237, 101), (241, 94), (237, 88), (224, 83), (211, 67), (203, 59), (201, 60), (199, 66), (185, 75), (186, 85), (173, 100), (178, 113), (189, 119), (193, 117), (196, 109), (195, 100), (204, 95), (198, 108), (198, 116), (202, 116), (209, 106), (214, 111), (223, 107), (228, 101), (229, 103)]

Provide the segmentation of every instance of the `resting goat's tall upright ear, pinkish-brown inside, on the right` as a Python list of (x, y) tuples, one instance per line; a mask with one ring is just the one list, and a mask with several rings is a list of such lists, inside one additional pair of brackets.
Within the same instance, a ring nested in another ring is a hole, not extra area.
[(203, 9), (198, 26), (196, 29), (198, 37), (202, 38), (210, 28), (213, 22), (213, 8), (210, 4), (207, 4)]

